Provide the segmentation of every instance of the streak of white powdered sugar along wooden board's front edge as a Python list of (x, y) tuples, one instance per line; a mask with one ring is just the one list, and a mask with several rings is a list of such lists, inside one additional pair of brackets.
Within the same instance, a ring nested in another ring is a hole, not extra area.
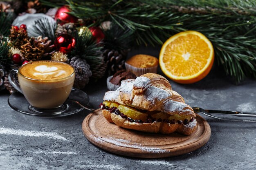
[(169, 150), (165, 150), (165, 149), (161, 149), (161, 148), (142, 146), (141, 144), (130, 144), (131, 141), (129, 141), (129, 140), (117, 139), (114, 137), (100, 139), (98, 137), (95, 137), (94, 135), (90, 135), (90, 138), (93, 138), (94, 141), (96, 141), (97, 143), (100, 143), (100, 144), (102, 144), (104, 142), (108, 142), (110, 144), (114, 144), (114, 145), (121, 146), (121, 147), (140, 149), (142, 152), (145, 152), (145, 153), (168, 153), (168, 152), (170, 152)]

